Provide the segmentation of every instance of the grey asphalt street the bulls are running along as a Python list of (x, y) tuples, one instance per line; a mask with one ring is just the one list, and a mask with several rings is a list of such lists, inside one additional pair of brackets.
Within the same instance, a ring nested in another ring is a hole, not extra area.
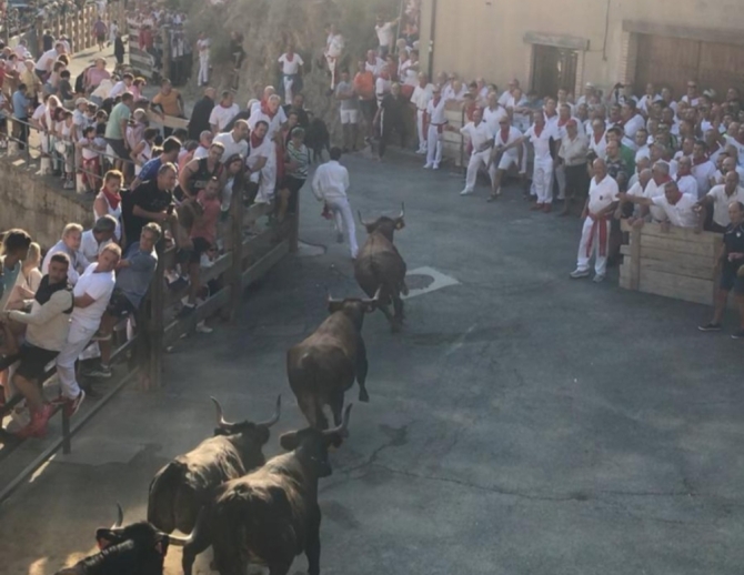
[[(322, 480), (322, 572), (738, 574), (742, 343), (697, 332), (704, 306), (619, 289), (616, 270), (570, 280), (579, 220), (530, 212), (514, 188), (487, 204), (410, 158), (343, 162), (365, 218), (405, 202), (395, 240), (418, 291), (402, 333), (365, 320), (371, 402), (348, 394), (351, 436)], [(234, 323), (168, 356), (165, 389), (123, 391), (0, 508), (3, 574), (90, 552), (117, 501), (142, 518), (155, 471), (210, 435), (209, 395), (262, 420), (282, 393), (270, 455), (303, 425), (284, 353), (325, 317), (326, 290), (360, 290), (302, 193), (301, 239), (322, 250), (286, 258)], [(179, 564), (173, 549), (168, 573)], [(292, 573), (305, 569), (298, 557)]]

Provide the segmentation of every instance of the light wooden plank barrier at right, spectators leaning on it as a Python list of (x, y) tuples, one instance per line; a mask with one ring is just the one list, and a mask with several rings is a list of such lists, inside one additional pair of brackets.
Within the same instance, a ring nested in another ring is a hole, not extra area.
[(620, 268), (620, 286), (710, 305), (718, 282), (716, 258), (722, 236), (646, 223), (635, 229), (623, 221), (630, 243), (621, 248), (625, 255)]

